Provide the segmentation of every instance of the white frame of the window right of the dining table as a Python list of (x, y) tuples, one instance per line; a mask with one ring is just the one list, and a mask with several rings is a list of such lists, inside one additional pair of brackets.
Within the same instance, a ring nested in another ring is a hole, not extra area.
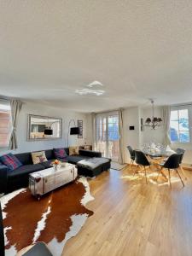
[[(172, 111), (179, 111), (179, 110), (183, 110), (183, 109), (187, 109), (188, 110), (188, 118), (189, 118), (189, 142), (186, 143), (182, 143), (180, 141), (177, 142), (172, 142), (171, 140), (171, 131), (170, 133), (170, 140), (172, 145), (190, 145), (192, 143), (192, 132), (191, 132), (191, 122), (192, 122), (192, 106), (190, 105), (182, 105), (182, 106), (172, 106), (171, 107), (171, 112)], [(171, 123), (171, 113), (170, 113), (170, 123)], [(170, 124), (170, 129), (171, 129), (171, 124)]]

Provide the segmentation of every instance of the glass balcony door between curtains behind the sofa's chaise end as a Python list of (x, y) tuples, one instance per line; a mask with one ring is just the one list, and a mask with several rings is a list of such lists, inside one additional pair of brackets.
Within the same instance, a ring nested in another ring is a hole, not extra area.
[(96, 115), (96, 150), (102, 156), (118, 160), (119, 155), (119, 115), (99, 113)]

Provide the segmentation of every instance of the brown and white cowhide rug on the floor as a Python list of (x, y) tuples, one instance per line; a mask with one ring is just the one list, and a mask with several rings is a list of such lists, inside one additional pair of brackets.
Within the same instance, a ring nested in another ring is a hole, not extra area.
[(90, 186), (85, 177), (44, 195), (40, 201), (28, 189), (0, 198), (3, 208), (6, 256), (44, 241), (55, 256), (61, 256), (67, 240), (76, 236), (93, 212), (85, 208)]

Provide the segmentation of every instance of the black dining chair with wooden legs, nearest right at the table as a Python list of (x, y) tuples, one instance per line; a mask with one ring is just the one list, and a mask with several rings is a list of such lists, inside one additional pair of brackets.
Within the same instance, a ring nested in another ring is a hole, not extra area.
[[(181, 159), (181, 154), (172, 154), (169, 156), (169, 158), (166, 160), (166, 162), (159, 164), (160, 171), (158, 173), (157, 176), (157, 180), (158, 177), (160, 175), (160, 172), (162, 171), (162, 169), (168, 169), (169, 172), (169, 183), (170, 183), (170, 187), (172, 188), (172, 182), (171, 182), (171, 170), (175, 170), (177, 172), (178, 177), (180, 178), (181, 182), (183, 183), (183, 179), (180, 176), (179, 172), (178, 172), (178, 168), (179, 168), (179, 163), (180, 163), (180, 159)], [(183, 183), (183, 187), (184, 187), (184, 183)]]

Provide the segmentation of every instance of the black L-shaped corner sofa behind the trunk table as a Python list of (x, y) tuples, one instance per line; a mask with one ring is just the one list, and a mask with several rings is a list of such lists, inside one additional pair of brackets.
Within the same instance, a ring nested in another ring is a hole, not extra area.
[[(31, 152), (15, 154), (15, 156), (20, 160), (23, 166), (15, 169), (14, 171), (9, 171), (7, 166), (0, 164), (0, 194), (9, 193), (15, 189), (25, 188), (28, 186), (29, 173), (38, 172), (50, 167), (52, 160), (55, 160), (55, 154), (53, 149), (44, 150), (47, 160), (44, 163), (33, 165)], [(67, 157), (63, 161), (67, 161), (71, 164), (77, 165), (80, 160), (86, 160), (93, 157), (102, 157), (101, 152), (90, 151), (90, 150), (79, 150), (79, 155), (68, 155), (69, 150), (65, 148)], [(77, 165), (78, 166), (78, 165)], [(102, 171), (107, 171), (110, 168), (110, 160), (108, 165), (97, 166), (96, 170), (87, 170), (78, 166), (78, 172), (80, 175), (84, 176), (96, 176)]]

